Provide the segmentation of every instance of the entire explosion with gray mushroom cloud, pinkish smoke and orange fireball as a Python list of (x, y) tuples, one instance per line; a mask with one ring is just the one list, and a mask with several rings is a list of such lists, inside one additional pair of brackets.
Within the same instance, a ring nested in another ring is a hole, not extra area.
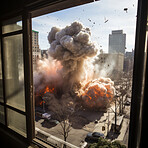
[(90, 58), (97, 55), (98, 49), (91, 41), (90, 29), (80, 22), (73, 22), (63, 29), (53, 27), (48, 41), (49, 59), (39, 60), (34, 74), (36, 91), (52, 93), (57, 97), (60, 90), (60, 98), (77, 91), (84, 106), (105, 107), (114, 96), (114, 83), (110, 78), (92, 80), (94, 66)]

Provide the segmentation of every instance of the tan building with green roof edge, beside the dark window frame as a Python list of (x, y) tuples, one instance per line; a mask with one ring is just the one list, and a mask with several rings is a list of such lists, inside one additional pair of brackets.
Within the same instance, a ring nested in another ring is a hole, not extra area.
[(36, 69), (37, 60), (41, 58), (41, 50), (39, 49), (39, 32), (32, 30), (32, 57), (33, 68)]

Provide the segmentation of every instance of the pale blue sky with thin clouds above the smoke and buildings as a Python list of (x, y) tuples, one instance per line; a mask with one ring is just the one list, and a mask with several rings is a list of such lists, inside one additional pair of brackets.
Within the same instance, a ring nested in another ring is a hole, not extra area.
[[(124, 10), (127, 8), (127, 11)], [(47, 36), (51, 28), (64, 28), (74, 21), (91, 30), (91, 40), (98, 49), (108, 52), (108, 38), (112, 30), (126, 34), (126, 51), (134, 49), (137, 0), (100, 0), (32, 18), (32, 29), (39, 32), (39, 47), (49, 49)]]

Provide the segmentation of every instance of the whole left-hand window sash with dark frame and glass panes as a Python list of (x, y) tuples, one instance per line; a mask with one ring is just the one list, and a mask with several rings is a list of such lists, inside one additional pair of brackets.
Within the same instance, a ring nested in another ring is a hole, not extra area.
[(27, 64), (24, 58), (29, 58), (27, 50), (30, 49), (26, 36), (26, 26), (29, 25), (26, 20), (27, 17), (24, 15), (23, 20), (22, 16), (17, 16), (1, 23), (0, 124), (7, 127), (8, 132), (14, 132), (17, 136), (30, 140), (33, 130), (29, 131), (32, 124), (28, 101), (30, 102), (29, 98), (32, 97), (27, 90), (28, 88), (31, 92), (26, 69), (32, 64)]

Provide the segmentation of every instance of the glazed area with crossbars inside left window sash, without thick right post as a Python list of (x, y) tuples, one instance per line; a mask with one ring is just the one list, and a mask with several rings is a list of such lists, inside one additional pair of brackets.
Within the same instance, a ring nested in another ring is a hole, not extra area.
[[(21, 17), (2, 23), (3, 67), (5, 97), (1, 104), (2, 123), (26, 137), (24, 62)], [(1, 68), (2, 70), (2, 68)], [(3, 78), (3, 79), (2, 79)], [(1, 90), (3, 92), (3, 90)]]

